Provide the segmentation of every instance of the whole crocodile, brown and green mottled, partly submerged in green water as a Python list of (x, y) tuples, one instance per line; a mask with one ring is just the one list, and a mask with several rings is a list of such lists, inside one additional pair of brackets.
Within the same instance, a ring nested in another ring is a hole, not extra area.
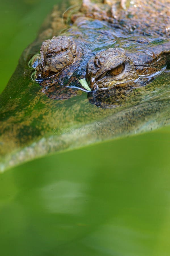
[(139, 3), (54, 7), (0, 95), (0, 171), (170, 124), (169, 2)]

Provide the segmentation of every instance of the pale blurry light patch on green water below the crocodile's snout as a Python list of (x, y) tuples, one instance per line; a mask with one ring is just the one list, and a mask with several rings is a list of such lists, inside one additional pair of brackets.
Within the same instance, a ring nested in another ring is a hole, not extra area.
[(51, 213), (82, 213), (86, 203), (85, 188), (83, 187), (83, 184), (67, 180), (47, 185), (39, 190), (42, 207)]

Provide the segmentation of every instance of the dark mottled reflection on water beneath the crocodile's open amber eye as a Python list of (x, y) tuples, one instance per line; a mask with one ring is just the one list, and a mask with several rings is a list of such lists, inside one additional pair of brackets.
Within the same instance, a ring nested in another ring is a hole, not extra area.
[(165, 94), (169, 92), (169, 83), (164, 84), (163, 79), (169, 79), (169, 70), (159, 77), (139, 79), (131, 85), (115, 86), (110, 90), (104, 91), (88, 92), (87, 98), (91, 104), (101, 108), (117, 108), (121, 106), (126, 108), (142, 102), (152, 102), (158, 99), (158, 96), (159, 99), (164, 99)]

